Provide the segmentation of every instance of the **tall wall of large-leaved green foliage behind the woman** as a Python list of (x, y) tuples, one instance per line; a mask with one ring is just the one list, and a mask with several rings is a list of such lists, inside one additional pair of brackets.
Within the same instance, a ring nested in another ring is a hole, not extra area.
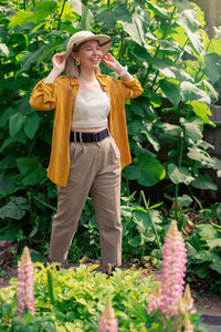
[[(202, 210), (199, 190), (218, 189), (207, 169), (221, 176), (221, 162), (208, 152), (212, 146), (203, 141), (203, 127), (214, 126), (210, 106), (221, 76), (220, 29), (210, 39), (203, 12), (187, 0), (3, 0), (0, 9), (0, 240), (27, 243), (36, 260), (39, 250), (48, 255), (56, 210), (55, 186), (46, 178), (53, 112), (32, 110), (29, 97), (50, 72), (53, 53), (65, 50), (71, 34), (92, 30), (113, 38), (113, 54), (145, 89), (126, 103), (133, 165), (123, 174), (123, 249), (126, 259), (151, 253), (157, 261), (168, 219), (186, 229), (185, 211)], [(210, 250), (207, 260), (198, 259), (207, 272), (201, 277), (211, 269), (220, 273), (220, 241), (208, 247), (202, 232), (187, 240), (190, 263), (193, 249)], [(70, 257), (83, 255), (99, 257), (90, 198)]]

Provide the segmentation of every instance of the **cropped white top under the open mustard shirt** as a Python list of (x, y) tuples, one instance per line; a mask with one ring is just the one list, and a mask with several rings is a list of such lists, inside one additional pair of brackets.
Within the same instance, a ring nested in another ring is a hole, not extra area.
[(90, 128), (107, 126), (110, 103), (106, 92), (77, 93), (73, 110), (72, 127)]

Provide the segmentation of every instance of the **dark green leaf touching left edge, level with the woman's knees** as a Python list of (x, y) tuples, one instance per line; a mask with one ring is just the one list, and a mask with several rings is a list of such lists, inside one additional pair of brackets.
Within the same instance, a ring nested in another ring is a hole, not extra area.
[(24, 197), (15, 197), (0, 208), (0, 218), (20, 220), (25, 216), (28, 209), (29, 206), (27, 205), (27, 199)]

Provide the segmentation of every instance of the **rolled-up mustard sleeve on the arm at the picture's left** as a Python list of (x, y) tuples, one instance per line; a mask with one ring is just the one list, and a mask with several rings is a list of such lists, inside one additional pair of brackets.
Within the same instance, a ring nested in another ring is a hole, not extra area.
[(55, 108), (55, 84), (41, 80), (33, 89), (29, 103), (38, 111), (50, 111)]

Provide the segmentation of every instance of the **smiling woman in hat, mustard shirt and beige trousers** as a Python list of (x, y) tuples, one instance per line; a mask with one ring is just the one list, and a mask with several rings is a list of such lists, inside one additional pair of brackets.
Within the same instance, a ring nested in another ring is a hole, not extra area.
[[(108, 52), (105, 34), (81, 31), (34, 87), (30, 104), (55, 108), (49, 178), (57, 185), (50, 260), (65, 263), (86, 197), (94, 204), (103, 268), (122, 264), (120, 170), (130, 164), (125, 100), (143, 89)], [(103, 62), (119, 80), (99, 74)], [(65, 71), (66, 75), (60, 76)], [(60, 77), (59, 77), (60, 76)]]

